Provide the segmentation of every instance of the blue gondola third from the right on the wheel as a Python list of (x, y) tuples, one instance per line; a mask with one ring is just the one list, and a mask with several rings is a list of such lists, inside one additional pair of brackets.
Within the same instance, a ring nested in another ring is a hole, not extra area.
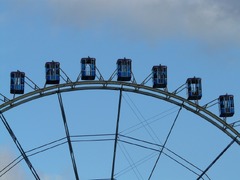
[(153, 66), (152, 68), (153, 88), (167, 87), (167, 66)]

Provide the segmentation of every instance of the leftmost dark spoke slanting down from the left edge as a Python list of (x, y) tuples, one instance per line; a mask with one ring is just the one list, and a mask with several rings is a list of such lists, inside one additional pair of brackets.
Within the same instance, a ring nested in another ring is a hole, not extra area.
[(2, 119), (3, 124), (5, 125), (6, 129), (8, 130), (10, 136), (12, 137), (14, 143), (16, 144), (18, 150), (20, 151), (23, 159), (24, 159), (25, 162), (27, 163), (27, 165), (28, 165), (29, 169), (31, 170), (33, 176), (35, 177), (36, 180), (40, 180), (40, 178), (39, 178), (37, 172), (35, 171), (32, 163), (31, 163), (30, 160), (28, 159), (25, 151), (23, 150), (20, 142), (17, 140), (17, 137), (16, 137), (15, 134), (13, 133), (11, 127), (9, 126), (9, 124), (8, 124), (6, 118), (3, 116), (2, 112), (0, 112), (0, 118)]

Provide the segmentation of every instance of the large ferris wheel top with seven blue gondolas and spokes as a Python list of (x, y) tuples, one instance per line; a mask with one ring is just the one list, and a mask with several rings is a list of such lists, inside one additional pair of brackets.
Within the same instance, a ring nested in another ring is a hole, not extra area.
[[(69, 168), (70, 165), (70, 177), (76, 180), (171, 179), (174, 173), (180, 179), (211, 179), (209, 170), (233, 144), (240, 145), (240, 121), (227, 121), (235, 113), (234, 96), (220, 95), (200, 105), (203, 95), (200, 77), (188, 78), (179, 88), (170, 91), (165, 65), (154, 65), (141, 83), (136, 82), (131, 59), (118, 59), (116, 66), (113, 74), (105, 79), (95, 58), (82, 58), (81, 71), (72, 81), (59, 62), (46, 62), (43, 87), (24, 72), (11, 72), (13, 98), (0, 94), (3, 102), (0, 118), (20, 155), (0, 169), (0, 177), (25, 161), (32, 177), (44, 179), (38, 163), (49, 153), (56, 160), (51, 166), (61, 164)], [(26, 93), (26, 85), (32, 91)], [(187, 97), (181, 95), (184, 90)], [(209, 110), (215, 105), (218, 115)], [(33, 106), (37, 108), (34, 110)], [(26, 112), (20, 119), (30, 118), (23, 120), (26, 129), (12, 128), (12, 114), (17, 117), (18, 111)], [(193, 132), (194, 128), (191, 131), (186, 127), (191, 126), (192, 121), (178, 122), (185, 113), (190, 114), (189, 118), (205, 120), (204, 126), (211, 126), (230, 139), (221, 151), (216, 150), (217, 155), (210, 156), (212, 159), (198, 164), (199, 157), (189, 155), (202, 149), (198, 147), (198, 127)], [(35, 129), (31, 130), (33, 126)], [(22, 131), (29, 131), (26, 141), (34, 144), (28, 149), (25, 149), (25, 135), (19, 138)], [(38, 133), (36, 137), (35, 133)], [(58, 151), (62, 153), (58, 155)], [(43, 161), (50, 166), (54, 160)]]

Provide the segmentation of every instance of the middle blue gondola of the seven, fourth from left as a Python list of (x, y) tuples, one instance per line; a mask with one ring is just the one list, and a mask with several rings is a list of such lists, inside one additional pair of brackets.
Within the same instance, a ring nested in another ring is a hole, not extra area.
[(118, 81), (130, 81), (132, 78), (132, 60), (118, 59), (117, 60), (117, 75)]

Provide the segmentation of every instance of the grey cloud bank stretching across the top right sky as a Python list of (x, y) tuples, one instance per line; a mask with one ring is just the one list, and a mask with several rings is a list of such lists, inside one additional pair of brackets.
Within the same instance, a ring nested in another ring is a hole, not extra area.
[(238, 0), (51, 0), (55, 22), (161, 38), (240, 40)]

